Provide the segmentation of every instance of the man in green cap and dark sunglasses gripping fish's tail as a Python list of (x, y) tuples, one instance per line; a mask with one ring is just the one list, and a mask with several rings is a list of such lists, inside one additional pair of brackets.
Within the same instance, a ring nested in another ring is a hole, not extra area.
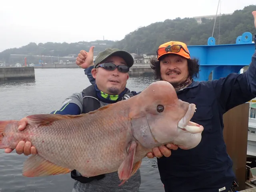
[[(126, 83), (133, 62), (132, 56), (126, 51), (108, 48), (100, 52), (92, 69), (96, 83), (66, 98), (60, 110), (53, 111), (52, 114), (88, 113), (101, 106), (130, 98), (133, 95), (126, 88)], [(20, 120), (19, 130), (23, 130), (27, 123), (26, 118)], [(6, 149), (5, 152), (10, 153), (12, 150)], [(36, 148), (31, 147), (30, 142), (21, 141), (16, 146), (16, 152), (25, 155), (36, 154)], [(86, 178), (73, 170), (71, 177), (75, 180), (72, 192), (138, 192), (141, 183), (139, 169), (122, 186), (118, 186), (120, 179), (117, 172)]]

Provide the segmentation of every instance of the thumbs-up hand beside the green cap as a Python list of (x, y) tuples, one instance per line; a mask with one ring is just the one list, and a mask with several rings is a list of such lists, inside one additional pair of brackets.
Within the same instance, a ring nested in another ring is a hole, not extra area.
[(94, 46), (90, 48), (89, 52), (86, 52), (85, 50), (80, 51), (80, 54), (78, 54), (78, 57), (76, 58), (76, 64), (79, 67), (86, 69), (93, 65), (93, 49)]

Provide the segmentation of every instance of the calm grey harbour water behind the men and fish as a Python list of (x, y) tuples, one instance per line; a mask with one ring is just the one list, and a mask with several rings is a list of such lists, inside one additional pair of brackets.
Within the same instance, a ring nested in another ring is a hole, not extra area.
[[(74, 92), (90, 85), (84, 71), (75, 69), (35, 69), (36, 80), (0, 82), (0, 120), (20, 120), (30, 114), (50, 113)], [(127, 87), (141, 91), (153, 77), (130, 77)], [(28, 158), (0, 149), (0, 192), (71, 192), (70, 174), (42, 178), (22, 176), (22, 164)], [(163, 192), (156, 159), (145, 158), (140, 168), (140, 191)]]

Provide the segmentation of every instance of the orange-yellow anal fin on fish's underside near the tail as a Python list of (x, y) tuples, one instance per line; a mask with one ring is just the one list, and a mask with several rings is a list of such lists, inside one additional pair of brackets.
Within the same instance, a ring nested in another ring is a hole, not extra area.
[(58, 166), (44, 158), (40, 155), (35, 154), (30, 156), (23, 166), (22, 175), (26, 177), (39, 177), (39, 176), (49, 176), (58, 174), (67, 174), (72, 170)]

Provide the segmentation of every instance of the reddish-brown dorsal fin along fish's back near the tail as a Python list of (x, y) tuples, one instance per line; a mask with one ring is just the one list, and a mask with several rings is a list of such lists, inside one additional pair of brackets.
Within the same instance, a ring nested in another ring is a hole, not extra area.
[(26, 118), (28, 119), (28, 124), (49, 124), (54, 121), (63, 120), (63, 119), (72, 119), (79, 118), (86, 114), (80, 115), (60, 115), (60, 114), (35, 114), (29, 115)]

